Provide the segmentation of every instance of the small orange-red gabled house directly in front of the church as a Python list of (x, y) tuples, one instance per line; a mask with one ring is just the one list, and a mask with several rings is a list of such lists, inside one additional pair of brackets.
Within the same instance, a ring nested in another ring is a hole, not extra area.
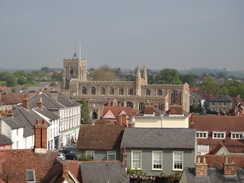
[(135, 114), (131, 107), (121, 106), (104, 106), (103, 107), (103, 120), (109, 120), (111, 123), (118, 123), (128, 126), (131, 117)]

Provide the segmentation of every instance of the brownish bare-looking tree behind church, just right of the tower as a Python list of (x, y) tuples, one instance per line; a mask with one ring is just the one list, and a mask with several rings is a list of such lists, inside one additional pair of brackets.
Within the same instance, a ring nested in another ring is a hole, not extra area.
[(118, 77), (112, 69), (108, 66), (103, 65), (94, 71), (93, 74), (94, 81), (116, 81)]

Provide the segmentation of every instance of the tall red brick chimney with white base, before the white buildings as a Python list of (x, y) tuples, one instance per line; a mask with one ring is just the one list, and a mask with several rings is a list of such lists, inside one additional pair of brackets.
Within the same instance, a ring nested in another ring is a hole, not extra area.
[(36, 119), (35, 130), (35, 153), (47, 153), (47, 124), (43, 119), (42, 124)]

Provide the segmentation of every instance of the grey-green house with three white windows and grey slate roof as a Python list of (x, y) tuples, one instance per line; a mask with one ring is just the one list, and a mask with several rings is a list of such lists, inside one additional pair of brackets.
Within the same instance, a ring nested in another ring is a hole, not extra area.
[(194, 166), (195, 147), (189, 128), (125, 128), (121, 142), (126, 167), (155, 176)]

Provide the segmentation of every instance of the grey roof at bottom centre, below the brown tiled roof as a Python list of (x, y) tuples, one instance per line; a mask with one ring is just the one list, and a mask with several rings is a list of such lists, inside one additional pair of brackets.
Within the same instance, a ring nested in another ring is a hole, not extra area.
[(124, 165), (119, 161), (80, 162), (82, 181), (90, 183), (129, 183)]

